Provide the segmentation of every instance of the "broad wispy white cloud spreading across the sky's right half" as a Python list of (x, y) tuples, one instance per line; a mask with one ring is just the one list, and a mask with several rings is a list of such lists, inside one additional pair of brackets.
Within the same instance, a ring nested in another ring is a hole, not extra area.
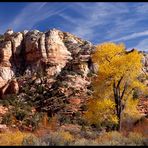
[[(138, 14), (141, 4), (134, 3), (76, 3), (71, 7), (81, 16), (70, 16), (68, 13), (61, 13), (60, 16), (74, 25), (71, 32), (88, 40), (121, 41), (140, 36), (147, 32), (134, 33), (140, 21), (147, 20), (147, 14)], [(142, 5), (143, 6), (143, 5)], [(147, 6), (143, 6), (145, 10)], [(141, 10), (141, 9), (140, 9)], [(110, 24), (112, 24), (110, 26)], [(105, 32), (100, 28), (106, 27)], [(132, 29), (131, 29), (132, 28)], [(137, 30), (138, 31), (138, 30)], [(132, 35), (128, 35), (128, 34)], [(123, 36), (123, 37), (122, 37)], [(118, 37), (118, 39), (116, 39)]]

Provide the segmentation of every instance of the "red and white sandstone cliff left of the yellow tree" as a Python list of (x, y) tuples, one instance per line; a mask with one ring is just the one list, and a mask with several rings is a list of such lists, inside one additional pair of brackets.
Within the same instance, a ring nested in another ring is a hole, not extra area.
[(0, 40), (0, 98), (17, 94), (39, 101), (42, 110), (56, 112), (64, 102), (71, 104), (66, 110), (77, 111), (90, 94), (94, 49), (90, 42), (56, 29), (9, 29)]

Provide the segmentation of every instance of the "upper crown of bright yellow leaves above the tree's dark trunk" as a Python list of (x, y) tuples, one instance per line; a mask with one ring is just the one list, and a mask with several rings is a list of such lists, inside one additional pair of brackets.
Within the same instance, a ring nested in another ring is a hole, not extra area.
[[(142, 55), (138, 51), (127, 52), (124, 44), (103, 43), (96, 47), (92, 59), (99, 67), (98, 75), (93, 81), (95, 94), (97, 91), (98, 93), (112, 92), (113, 89), (110, 86), (113, 82), (117, 84), (121, 77), (123, 77), (121, 90), (125, 84), (128, 84), (129, 89), (135, 87), (134, 83), (137, 83), (137, 77), (142, 68)], [(102, 96), (104, 98), (104, 94)]]

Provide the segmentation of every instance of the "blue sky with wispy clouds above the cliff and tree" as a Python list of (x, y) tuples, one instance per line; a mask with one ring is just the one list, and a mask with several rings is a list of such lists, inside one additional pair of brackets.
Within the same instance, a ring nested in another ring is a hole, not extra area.
[(112, 41), (148, 51), (148, 3), (1, 2), (0, 33), (57, 28), (94, 44)]

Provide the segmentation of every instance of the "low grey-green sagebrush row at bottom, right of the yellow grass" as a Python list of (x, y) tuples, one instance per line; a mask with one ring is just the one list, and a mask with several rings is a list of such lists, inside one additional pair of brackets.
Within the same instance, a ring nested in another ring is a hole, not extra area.
[[(86, 133), (85, 133), (86, 134)], [(93, 135), (94, 134), (94, 135)], [(97, 138), (96, 138), (97, 137)], [(23, 145), (44, 145), (44, 146), (93, 146), (93, 145), (148, 145), (147, 139), (139, 133), (130, 133), (123, 136), (117, 131), (105, 132), (99, 136), (94, 132), (87, 132), (87, 135), (72, 135), (68, 131), (59, 130), (44, 134), (40, 138), (33, 135), (25, 137)]]

